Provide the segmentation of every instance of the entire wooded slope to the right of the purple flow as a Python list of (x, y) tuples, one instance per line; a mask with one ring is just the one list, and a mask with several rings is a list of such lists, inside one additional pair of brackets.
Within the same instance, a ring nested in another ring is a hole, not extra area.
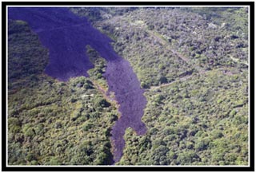
[(246, 165), (247, 9), (113, 11), (98, 8), (92, 22), (130, 61), (148, 100), (148, 132), (126, 131), (118, 164)]

